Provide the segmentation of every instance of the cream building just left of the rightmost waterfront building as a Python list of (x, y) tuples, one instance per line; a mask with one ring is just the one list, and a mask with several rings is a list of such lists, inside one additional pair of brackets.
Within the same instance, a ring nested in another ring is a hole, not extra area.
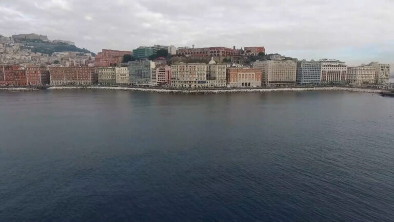
[(373, 66), (347, 67), (346, 82), (362, 85), (375, 83), (376, 69)]

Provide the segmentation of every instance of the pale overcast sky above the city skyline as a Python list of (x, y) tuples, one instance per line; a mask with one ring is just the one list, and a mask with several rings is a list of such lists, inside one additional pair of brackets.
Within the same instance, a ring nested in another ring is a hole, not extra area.
[(393, 64), (394, 0), (1, 0), (0, 34), (32, 32), (93, 52), (265, 46), (299, 59)]

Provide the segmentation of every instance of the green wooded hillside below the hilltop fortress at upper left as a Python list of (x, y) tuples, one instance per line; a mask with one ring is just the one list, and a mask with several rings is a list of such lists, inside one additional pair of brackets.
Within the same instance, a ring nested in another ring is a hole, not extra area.
[(85, 48), (78, 48), (74, 45), (69, 45), (66, 43), (51, 43), (45, 42), (40, 39), (34, 40), (18, 40), (15, 42), (23, 43), (24, 48), (31, 49), (32, 52), (40, 52), (45, 54), (52, 54), (53, 52), (64, 52), (64, 51), (75, 51), (75, 52), (84, 52), (84, 53), (92, 53), (93, 52), (85, 49)]

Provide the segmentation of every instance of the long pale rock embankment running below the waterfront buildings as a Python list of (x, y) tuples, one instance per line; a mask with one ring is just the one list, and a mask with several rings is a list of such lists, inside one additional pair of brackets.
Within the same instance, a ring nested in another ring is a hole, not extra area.
[(110, 86), (51, 86), (48, 89), (110, 89), (110, 90), (130, 90), (146, 91), (153, 93), (174, 93), (174, 94), (224, 94), (224, 93), (268, 93), (274, 91), (324, 91), (324, 90), (342, 90), (354, 91), (360, 93), (378, 94), (384, 90), (365, 89), (365, 88), (348, 88), (348, 87), (310, 87), (310, 88), (252, 88), (252, 89), (155, 89), (155, 88), (133, 88), (133, 87), (110, 87)]

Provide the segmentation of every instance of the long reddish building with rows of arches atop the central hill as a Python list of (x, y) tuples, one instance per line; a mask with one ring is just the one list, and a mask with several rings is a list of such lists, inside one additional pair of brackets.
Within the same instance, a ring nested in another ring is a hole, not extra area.
[(183, 48), (178, 49), (177, 54), (188, 56), (202, 56), (202, 57), (222, 57), (227, 55), (239, 55), (238, 49), (231, 49), (226, 47), (209, 47), (209, 48)]

